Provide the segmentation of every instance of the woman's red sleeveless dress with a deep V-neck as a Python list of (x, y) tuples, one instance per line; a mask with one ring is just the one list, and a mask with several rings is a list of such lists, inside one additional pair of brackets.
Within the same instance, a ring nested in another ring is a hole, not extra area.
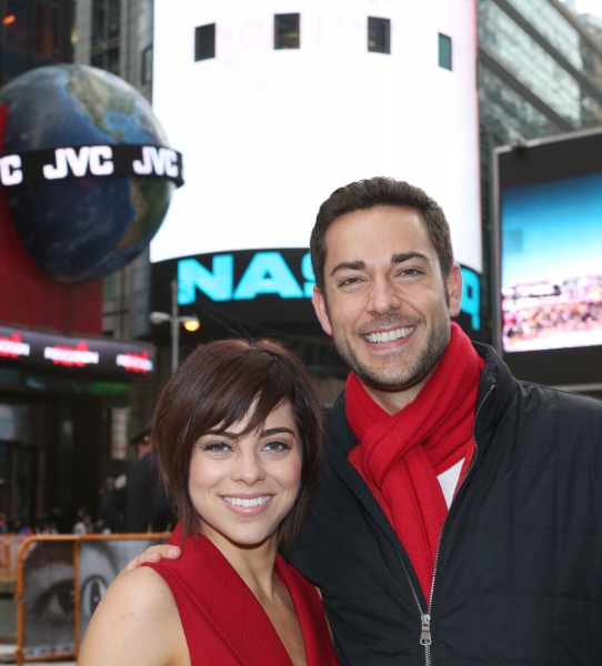
[[(170, 544), (178, 559), (144, 563), (160, 574), (175, 599), (192, 666), (292, 666), (268, 615), (253, 593), (204, 536), (181, 542), (178, 524)], [(338, 666), (322, 602), (313, 585), (280, 555), (275, 572), (299, 617), (308, 666)]]

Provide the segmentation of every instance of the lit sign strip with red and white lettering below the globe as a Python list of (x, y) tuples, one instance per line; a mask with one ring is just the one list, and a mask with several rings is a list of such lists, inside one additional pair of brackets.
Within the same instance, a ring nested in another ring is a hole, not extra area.
[(28, 329), (0, 326), (0, 363), (88, 369), (101, 373), (153, 372), (151, 345), (111, 339), (53, 335)]

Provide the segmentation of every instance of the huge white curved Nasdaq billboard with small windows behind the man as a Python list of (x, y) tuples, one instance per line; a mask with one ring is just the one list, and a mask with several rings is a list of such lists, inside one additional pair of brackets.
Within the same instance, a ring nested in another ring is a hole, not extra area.
[(187, 185), (151, 261), (178, 264), (180, 305), (309, 300), (320, 204), (374, 175), (441, 204), (479, 281), (474, 1), (155, 0), (154, 11), (153, 109), (185, 152)]

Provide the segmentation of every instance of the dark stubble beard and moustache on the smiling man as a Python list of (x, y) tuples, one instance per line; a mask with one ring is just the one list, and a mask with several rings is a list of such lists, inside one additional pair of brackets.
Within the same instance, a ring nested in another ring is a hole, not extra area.
[[(387, 319), (387, 321), (384, 321)], [(415, 325), (408, 321), (399, 322), (397, 317), (383, 317), (378, 322), (371, 322), (371, 329), (389, 329), (391, 325), (398, 327)], [(374, 325), (377, 324), (377, 325)], [(385, 391), (388, 393), (397, 393), (412, 389), (417, 384), (424, 381), (435, 369), (445, 352), (450, 342), (451, 329), (450, 321), (443, 321), (434, 325), (428, 333), (424, 346), (419, 352), (417, 359), (408, 367), (398, 367), (402, 365), (399, 355), (391, 355), (391, 367), (379, 370), (371, 367), (362, 362), (355, 350), (349, 345), (342, 336), (334, 336), (334, 345), (342, 360), (358, 375), (359, 380), (377, 391)]]

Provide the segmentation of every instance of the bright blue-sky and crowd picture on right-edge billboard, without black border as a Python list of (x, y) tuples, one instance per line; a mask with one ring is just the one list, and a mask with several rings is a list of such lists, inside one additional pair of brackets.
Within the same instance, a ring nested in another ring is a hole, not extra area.
[(505, 352), (602, 344), (602, 173), (501, 196)]

